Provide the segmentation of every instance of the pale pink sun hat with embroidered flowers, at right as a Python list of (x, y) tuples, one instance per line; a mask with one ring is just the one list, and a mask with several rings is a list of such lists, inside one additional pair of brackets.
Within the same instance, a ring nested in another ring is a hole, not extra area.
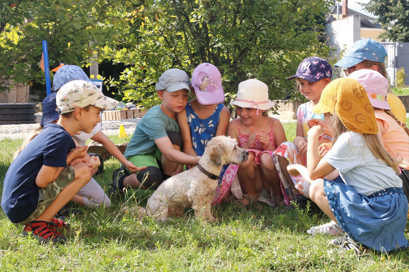
[(369, 101), (375, 108), (391, 109), (386, 97), (388, 96), (389, 82), (379, 72), (362, 69), (351, 73), (348, 78), (357, 80), (364, 86)]

